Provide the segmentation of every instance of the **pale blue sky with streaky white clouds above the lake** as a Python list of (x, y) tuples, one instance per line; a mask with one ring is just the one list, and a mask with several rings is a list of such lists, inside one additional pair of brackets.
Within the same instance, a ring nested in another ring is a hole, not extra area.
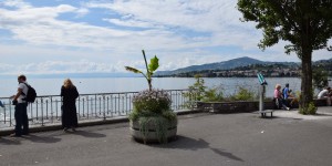
[[(159, 71), (249, 56), (299, 62), (284, 44), (261, 51), (236, 0), (0, 0), (0, 74), (122, 73), (159, 58)], [(332, 44), (331, 40), (329, 41)], [(331, 59), (313, 52), (313, 60)]]

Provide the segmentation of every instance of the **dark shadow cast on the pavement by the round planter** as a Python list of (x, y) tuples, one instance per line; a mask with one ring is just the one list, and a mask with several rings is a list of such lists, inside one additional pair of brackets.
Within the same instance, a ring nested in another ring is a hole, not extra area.
[(209, 143), (201, 138), (194, 139), (190, 137), (178, 135), (176, 141), (174, 141), (174, 142), (170, 142), (168, 144), (152, 145), (152, 146), (160, 147), (160, 148), (178, 148), (178, 149), (185, 149), (185, 151), (197, 151), (197, 149), (208, 148), (208, 149), (211, 149), (217, 155), (220, 155), (222, 157), (227, 157), (229, 159), (234, 159), (234, 160), (238, 160), (238, 162), (243, 162), (243, 159), (241, 159), (240, 157), (237, 157), (236, 155), (234, 155), (231, 153), (228, 153), (220, 148), (210, 147)]

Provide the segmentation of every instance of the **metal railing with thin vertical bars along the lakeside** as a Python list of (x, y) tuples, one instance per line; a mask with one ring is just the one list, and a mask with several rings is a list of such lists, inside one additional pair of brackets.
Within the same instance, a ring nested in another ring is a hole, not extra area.
[[(172, 97), (172, 110), (183, 110), (189, 102), (187, 90), (165, 90)], [(138, 92), (80, 94), (76, 100), (79, 123), (82, 121), (103, 121), (127, 116), (133, 111), (133, 96)], [(187, 94), (186, 94), (187, 93)], [(14, 125), (14, 106), (10, 97), (0, 97), (4, 107), (0, 107), (0, 131)], [(44, 126), (61, 123), (61, 96), (38, 96), (28, 105), (30, 125)]]

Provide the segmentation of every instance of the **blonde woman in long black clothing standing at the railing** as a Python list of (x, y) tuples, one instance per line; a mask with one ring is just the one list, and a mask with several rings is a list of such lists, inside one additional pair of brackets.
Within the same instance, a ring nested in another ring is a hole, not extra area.
[(79, 97), (79, 92), (70, 79), (64, 80), (61, 87), (61, 96), (63, 131), (66, 132), (69, 128), (72, 128), (73, 132), (75, 132), (75, 128), (79, 126), (76, 113), (76, 98)]

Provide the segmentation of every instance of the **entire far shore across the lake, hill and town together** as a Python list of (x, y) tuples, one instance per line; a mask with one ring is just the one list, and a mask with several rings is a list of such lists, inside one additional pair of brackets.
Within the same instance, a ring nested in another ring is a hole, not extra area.
[[(332, 76), (332, 59), (312, 63), (313, 70), (322, 70)], [(251, 58), (239, 58), (219, 63), (193, 65), (175, 71), (157, 72), (158, 77), (256, 77), (260, 72), (267, 77), (299, 77), (301, 64), (297, 62), (264, 62)]]

